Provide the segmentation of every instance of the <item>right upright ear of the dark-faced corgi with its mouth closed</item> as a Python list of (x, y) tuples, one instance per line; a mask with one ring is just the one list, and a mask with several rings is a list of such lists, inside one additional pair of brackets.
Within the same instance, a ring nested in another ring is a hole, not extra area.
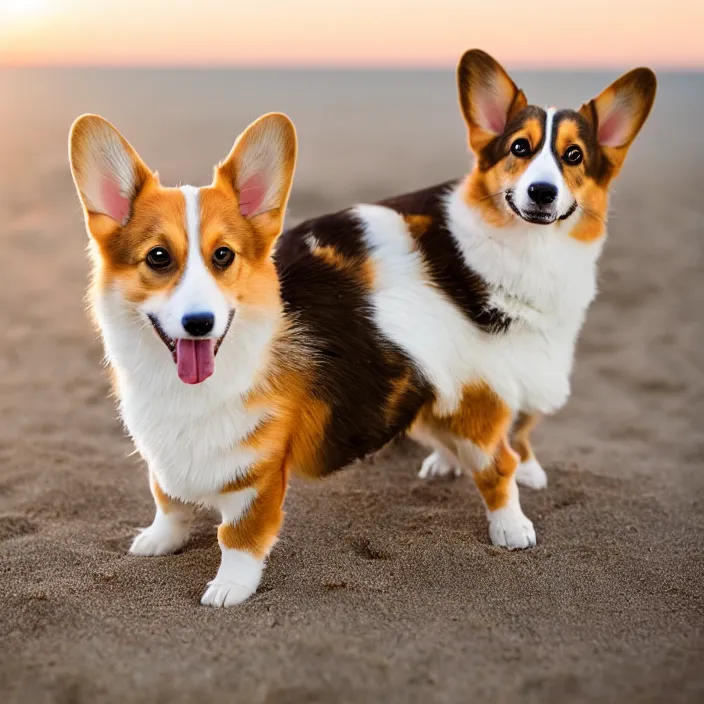
[(584, 103), (580, 114), (592, 126), (613, 178), (640, 132), (655, 101), (657, 79), (649, 68), (636, 68)]

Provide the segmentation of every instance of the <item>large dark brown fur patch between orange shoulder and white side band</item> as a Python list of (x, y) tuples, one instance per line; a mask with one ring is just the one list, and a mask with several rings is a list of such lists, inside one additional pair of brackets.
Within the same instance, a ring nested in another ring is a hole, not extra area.
[[(297, 417), (301, 427), (292, 438), (291, 465), (319, 476), (404, 432), (432, 391), (371, 315), (375, 272), (364, 224), (353, 210), (285, 232), (276, 261), (291, 330), (288, 347), (277, 356), (281, 368), (290, 369), (288, 360), (294, 360), (305, 369), (295, 371), (291, 384), (299, 385), (307, 399), (300, 408), (311, 414)], [(365, 271), (371, 273), (360, 275)]]

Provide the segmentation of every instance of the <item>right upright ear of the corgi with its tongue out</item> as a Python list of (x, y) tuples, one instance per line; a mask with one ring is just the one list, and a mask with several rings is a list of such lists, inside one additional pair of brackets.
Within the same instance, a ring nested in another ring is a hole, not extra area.
[(215, 183), (234, 191), (240, 214), (268, 250), (283, 228), (296, 168), (296, 130), (282, 113), (255, 120), (215, 170)]

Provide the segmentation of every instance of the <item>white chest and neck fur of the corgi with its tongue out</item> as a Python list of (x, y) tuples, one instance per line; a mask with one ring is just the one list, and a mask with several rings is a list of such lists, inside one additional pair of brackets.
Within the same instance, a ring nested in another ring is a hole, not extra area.
[(243, 401), (266, 360), (275, 323), (233, 320), (201, 384), (181, 382), (169, 351), (151, 326), (124, 308), (117, 294), (95, 302), (120, 411), (135, 445), (161, 487), (187, 501), (207, 501), (257, 461), (242, 444), (262, 413)]

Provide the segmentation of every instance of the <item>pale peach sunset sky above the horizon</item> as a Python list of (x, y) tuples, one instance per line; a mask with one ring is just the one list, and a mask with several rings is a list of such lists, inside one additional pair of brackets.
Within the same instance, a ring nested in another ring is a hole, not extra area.
[(0, 0), (0, 65), (704, 69), (702, 0)]

